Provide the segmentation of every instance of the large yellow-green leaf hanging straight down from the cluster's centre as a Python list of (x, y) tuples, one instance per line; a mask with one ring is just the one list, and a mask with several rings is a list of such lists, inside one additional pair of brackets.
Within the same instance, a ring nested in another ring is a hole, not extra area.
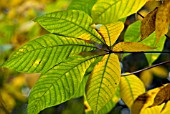
[(120, 63), (117, 55), (105, 55), (94, 67), (86, 85), (87, 101), (98, 113), (114, 96), (120, 81)]

